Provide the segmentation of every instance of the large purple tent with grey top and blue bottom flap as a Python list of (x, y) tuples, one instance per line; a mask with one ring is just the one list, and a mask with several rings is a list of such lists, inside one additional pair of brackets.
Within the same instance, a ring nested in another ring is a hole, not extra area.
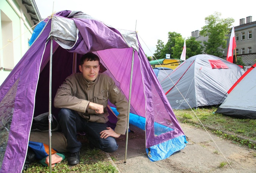
[[(0, 172), (22, 171), (32, 118), (49, 111), (51, 46), (52, 100), (65, 78), (78, 72), (79, 64), (76, 62), (81, 55), (93, 52), (106, 68), (102, 72), (114, 79), (127, 99), (131, 93), (130, 123), (145, 129), (145, 148), (147, 153), (150, 151), (149, 159), (165, 159), (185, 147), (184, 132), (136, 32), (114, 29), (81, 11), (60, 11), (42, 23), (43, 29), (35, 33), (38, 35), (35, 41), (0, 86), (0, 138), (5, 140), (1, 143)], [(58, 114), (53, 103), (51, 110), (52, 114)]]

